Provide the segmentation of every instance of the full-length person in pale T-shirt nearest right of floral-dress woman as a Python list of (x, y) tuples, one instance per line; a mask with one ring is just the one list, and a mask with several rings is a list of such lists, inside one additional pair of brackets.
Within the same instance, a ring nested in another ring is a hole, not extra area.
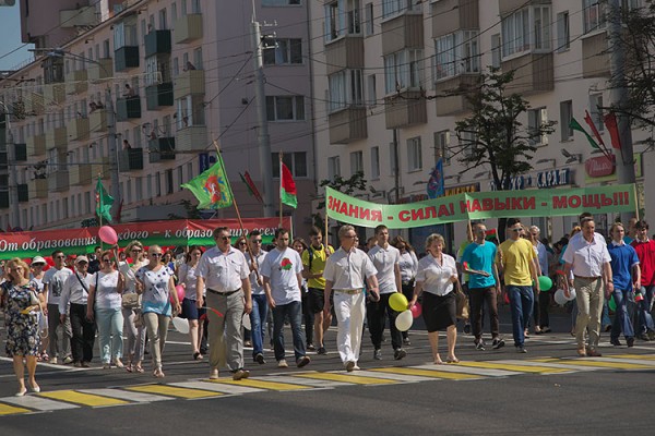
[[(71, 358), (73, 331), (70, 319), (61, 322), (59, 299), (63, 283), (73, 271), (66, 267), (66, 255), (61, 250), (52, 252), (52, 261), (55, 266), (48, 269), (44, 276), (44, 298), (47, 303), (46, 315), (48, 316), (48, 337), (50, 339), (48, 354), (50, 354), (50, 363), (58, 363), (61, 359), (62, 363), (69, 364), (73, 362), (73, 358)], [(59, 325), (62, 326), (63, 337), (59, 335)]]

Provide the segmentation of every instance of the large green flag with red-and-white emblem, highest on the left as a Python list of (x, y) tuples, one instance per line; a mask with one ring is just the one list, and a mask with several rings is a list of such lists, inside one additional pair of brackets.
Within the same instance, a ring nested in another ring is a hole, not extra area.
[(181, 186), (195, 195), (199, 209), (221, 209), (233, 204), (231, 187), (221, 155), (210, 169)]

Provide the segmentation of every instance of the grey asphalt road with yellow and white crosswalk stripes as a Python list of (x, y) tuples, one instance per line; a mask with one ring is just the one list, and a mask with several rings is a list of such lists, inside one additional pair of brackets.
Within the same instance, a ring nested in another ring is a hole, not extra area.
[[(501, 313), (508, 346), (498, 351), (476, 351), (472, 337), (460, 335), (457, 354), (462, 363), (446, 368), (426, 365), (431, 356), (425, 331), (413, 331), (408, 356), (400, 362), (392, 359), (391, 344), (384, 344), (382, 361), (373, 361), (366, 335), (359, 363), (364, 371), (353, 373), (355, 378), (347, 382), (334, 352), (334, 331), (327, 340), (333, 352), (312, 355), (312, 363), (302, 371), (278, 370), (273, 359), (265, 365), (248, 360), (248, 385), (231, 384), (229, 378), (207, 384), (206, 361), (193, 362), (186, 338), (171, 332), (163, 382), (148, 372), (136, 375), (120, 370), (39, 365), (37, 379), (43, 391), (37, 399), (69, 408), (51, 410), (49, 404), (49, 411), (11, 402), (15, 379), (10, 362), (3, 359), (0, 428), (11, 435), (654, 433), (655, 342), (616, 348), (607, 343), (604, 334), (603, 358), (577, 359), (568, 332), (569, 318), (558, 313), (551, 322), (555, 332), (533, 335), (526, 346), (528, 353), (519, 354), (512, 347), (507, 310)], [(415, 327), (420, 326), (417, 323)], [(289, 335), (287, 338), (290, 340)], [(445, 340), (440, 342), (444, 348)], [(248, 351), (246, 354), (250, 355)], [(437, 374), (440, 376), (432, 376)], [(222, 373), (222, 378), (227, 375)], [(194, 385), (198, 383), (201, 385)], [(202, 389), (207, 386), (216, 389)], [(98, 389), (106, 388), (112, 390), (99, 396)], [(239, 389), (250, 391), (226, 392)], [(80, 399), (70, 390), (78, 396), (94, 395)], [(124, 398), (117, 400), (117, 395)], [(114, 396), (110, 400), (118, 404), (108, 407), (100, 401), (88, 405), (98, 398), (107, 400), (107, 396)], [(28, 397), (34, 404), (35, 395)]]

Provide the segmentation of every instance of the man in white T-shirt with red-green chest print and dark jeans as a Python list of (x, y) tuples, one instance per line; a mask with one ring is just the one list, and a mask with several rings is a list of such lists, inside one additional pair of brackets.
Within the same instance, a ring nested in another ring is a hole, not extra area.
[(273, 349), (277, 367), (288, 367), (284, 352), (284, 322), (287, 316), (291, 324), (296, 366), (302, 367), (310, 362), (306, 355), (305, 332), (300, 326), (302, 259), (297, 251), (289, 249), (288, 230), (275, 230), (275, 249), (266, 254), (261, 274), (264, 277), (269, 305), (273, 310)]

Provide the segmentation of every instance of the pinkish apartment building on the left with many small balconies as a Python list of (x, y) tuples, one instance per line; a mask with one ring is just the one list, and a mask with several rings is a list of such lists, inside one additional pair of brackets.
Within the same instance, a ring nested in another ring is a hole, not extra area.
[[(263, 208), (239, 173), (277, 198), (284, 152), (298, 187), (298, 208), (284, 213), (307, 233), (315, 174), (305, 1), (57, 0), (39, 2), (38, 14), (34, 1), (21, 7), (24, 40), (39, 50), (0, 90), (12, 142), (0, 144), (2, 229), (88, 223), (96, 179), (111, 193), (116, 168), (122, 222), (184, 217), (182, 202), (196, 201), (180, 184), (212, 165), (217, 140), (245, 217)], [(265, 46), (273, 185), (261, 177), (253, 19)]]

